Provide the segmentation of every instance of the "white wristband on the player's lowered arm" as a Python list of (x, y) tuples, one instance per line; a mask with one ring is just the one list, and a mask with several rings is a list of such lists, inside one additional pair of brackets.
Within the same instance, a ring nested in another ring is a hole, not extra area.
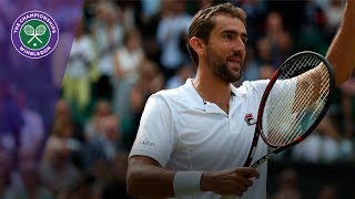
[(176, 197), (202, 192), (200, 180), (203, 171), (176, 171), (173, 181), (174, 193)]

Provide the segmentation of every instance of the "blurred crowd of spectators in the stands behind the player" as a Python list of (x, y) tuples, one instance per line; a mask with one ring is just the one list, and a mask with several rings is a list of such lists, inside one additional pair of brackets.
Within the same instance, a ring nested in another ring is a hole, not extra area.
[[(50, 128), (21, 91), (7, 91), (0, 82), (0, 105), (4, 104), (0, 107), (6, 108), (0, 112), (0, 196), (129, 198), (126, 157), (144, 104), (151, 94), (178, 87), (194, 76), (195, 65), (185, 49), (191, 19), (200, 9), (226, 1), (85, 0), (63, 81), (62, 74), (53, 73), (53, 84), (61, 90)], [(230, 2), (247, 13), (247, 55), (243, 80), (235, 86), (243, 81), (270, 78), (296, 52), (325, 54), (345, 3)], [(65, 34), (60, 36), (70, 40)], [(55, 56), (60, 53), (57, 51)], [(354, 96), (352, 78), (337, 88), (331, 109), (315, 132), (273, 161), (352, 164)], [(293, 171), (282, 175), (281, 180), (295, 176)], [(290, 195), (280, 190), (271, 197), (283, 196)], [(300, 197), (296, 192), (295, 198)]]

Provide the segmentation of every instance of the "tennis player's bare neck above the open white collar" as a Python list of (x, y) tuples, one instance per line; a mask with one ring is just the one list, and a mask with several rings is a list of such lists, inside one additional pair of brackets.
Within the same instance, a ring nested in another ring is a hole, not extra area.
[(199, 95), (206, 102), (215, 103), (225, 113), (229, 113), (229, 104), (231, 100), (231, 84), (222, 82), (212, 76), (203, 76), (196, 74), (192, 80)]

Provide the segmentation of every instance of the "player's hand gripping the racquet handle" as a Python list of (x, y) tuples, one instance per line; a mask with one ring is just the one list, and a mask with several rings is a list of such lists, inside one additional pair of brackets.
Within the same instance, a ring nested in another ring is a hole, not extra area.
[(239, 167), (227, 170), (204, 171), (200, 187), (202, 191), (212, 191), (217, 195), (243, 196), (253, 185), (251, 178), (258, 178), (260, 174), (252, 167)]

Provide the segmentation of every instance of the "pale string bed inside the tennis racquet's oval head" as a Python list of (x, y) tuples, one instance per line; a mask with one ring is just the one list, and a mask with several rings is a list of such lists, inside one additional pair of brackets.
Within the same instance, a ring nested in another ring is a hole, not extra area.
[(272, 146), (284, 146), (307, 133), (329, 95), (329, 74), (315, 55), (291, 60), (280, 70), (264, 109), (263, 134)]

